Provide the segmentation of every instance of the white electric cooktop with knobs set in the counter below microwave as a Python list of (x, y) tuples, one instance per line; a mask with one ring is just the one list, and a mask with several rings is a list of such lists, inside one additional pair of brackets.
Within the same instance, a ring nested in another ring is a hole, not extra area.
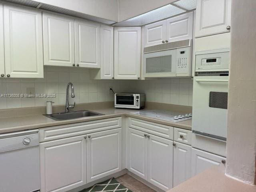
[(146, 110), (146, 111), (136, 111), (133, 114), (170, 121), (170, 122), (180, 122), (192, 119), (192, 113), (181, 114), (179, 112), (173, 112), (168, 110)]

